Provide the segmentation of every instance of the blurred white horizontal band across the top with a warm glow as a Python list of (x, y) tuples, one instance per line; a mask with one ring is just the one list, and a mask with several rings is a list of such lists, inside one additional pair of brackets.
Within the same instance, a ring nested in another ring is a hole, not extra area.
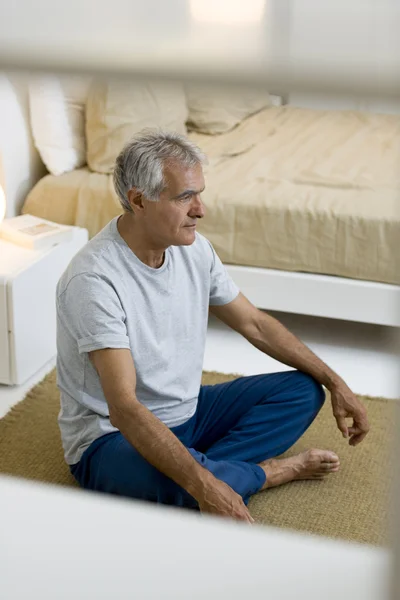
[(0, 68), (400, 93), (397, 0), (3, 2)]

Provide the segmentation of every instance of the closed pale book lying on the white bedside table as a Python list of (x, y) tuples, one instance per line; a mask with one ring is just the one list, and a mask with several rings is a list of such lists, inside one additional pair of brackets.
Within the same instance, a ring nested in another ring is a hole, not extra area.
[(20, 215), (5, 219), (0, 224), (0, 237), (3, 239), (30, 248), (42, 250), (72, 238), (73, 227), (53, 223), (33, 215)]

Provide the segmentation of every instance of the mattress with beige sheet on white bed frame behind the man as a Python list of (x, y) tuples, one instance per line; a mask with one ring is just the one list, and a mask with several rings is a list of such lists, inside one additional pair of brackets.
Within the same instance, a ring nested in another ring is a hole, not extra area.
[[(400, 283), (400, 117), (270, 107), (207, 154), (198, 230), (227, 264)], [(48, 175), (23, 212), (94, 235), (121, 212), (110, 176)]]

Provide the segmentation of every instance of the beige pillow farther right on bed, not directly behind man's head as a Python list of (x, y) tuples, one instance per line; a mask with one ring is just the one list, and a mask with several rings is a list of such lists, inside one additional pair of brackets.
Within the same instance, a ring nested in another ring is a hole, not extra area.
[(187, 85), (188, 129), (225, 133), (243, 119), (271, 104), (268, 92), (244, 87)]

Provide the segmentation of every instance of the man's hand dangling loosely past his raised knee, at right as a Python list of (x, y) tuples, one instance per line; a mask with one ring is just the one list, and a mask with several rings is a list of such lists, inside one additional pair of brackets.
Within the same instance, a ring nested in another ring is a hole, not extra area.
[[(350, 446), (357, 446), (363, 441), (369, 431), (367, 411), (351, 389), (341, 382), (330, 388), (333, 416), (343, 437), (349, 439)], [(352, 418), (353, 424), (349, 427), (346, 418)]]

